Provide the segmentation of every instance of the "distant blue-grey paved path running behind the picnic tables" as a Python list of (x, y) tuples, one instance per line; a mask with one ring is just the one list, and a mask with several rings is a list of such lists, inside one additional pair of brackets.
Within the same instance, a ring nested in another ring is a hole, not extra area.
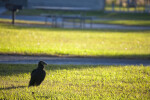
[[(11, 19), (11, 16), (0, 15), (0, 18)], [(45, 17), (42, 16), (16, 16), (18, 20), (27, 20), (27, 21), (40, 21), (45, 22)], [(51, 21), (51, 19), (49, 19)], [(58, 19), (58, 23), (61, 24), (61, 19)], [(76, 23), (79, 24), (79, 23)], [(77, 28), (80, 25), (76, 25)], [(72, 23), (66, 22), (65, 28), (74, 28)], [(85, 28), (91, 28), (90, 24), (86, 23)], [(93, 29), (127, 29), (127, 30), (150, 30), (148, 26), (124, 26), (124, 25), (111, 25), (111, 24), (93, 24)]]

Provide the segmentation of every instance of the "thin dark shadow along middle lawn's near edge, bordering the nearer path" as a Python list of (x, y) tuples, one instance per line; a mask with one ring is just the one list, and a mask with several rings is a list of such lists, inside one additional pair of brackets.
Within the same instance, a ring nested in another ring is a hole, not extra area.
[[(116, 55), (71, 55), (63, 52), (57, 54), (44, 54), (44, 53), (0, 53), (0, 56), (14, 56), (14, 57), (64, 57), (64, 58), (110, 58), (110, 59), (150, 59), (150, 54), (116, 54)], [(16, 58), (15, 58), (16, 59)]]

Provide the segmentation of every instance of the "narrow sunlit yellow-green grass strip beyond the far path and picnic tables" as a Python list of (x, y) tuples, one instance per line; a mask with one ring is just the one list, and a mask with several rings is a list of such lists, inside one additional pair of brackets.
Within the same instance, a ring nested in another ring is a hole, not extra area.
[[(72, 21), (72, 20), (68, 20)], [(79, 20), (74, 20), (79, 22)], [(11, 23), (10, 19), (0, 19), (2, 23)], [(23, 21), (16, 20), (17, 24), (32, 24), (32, 25), (46, 25), (45, 22), (37, 22), (37, 21)], [(91, 20), (86, 20), (86, 23), (91, 23)], [(128, 19), (108, 19), (108, 20), (93, 20), (93, 24), (118, 24), (118, 25), (128, 25), (128, 26), (150, 26), (150, 20), (128, 20)], [(47, 25), (50, 25), (50, 22), (47, 22)]]

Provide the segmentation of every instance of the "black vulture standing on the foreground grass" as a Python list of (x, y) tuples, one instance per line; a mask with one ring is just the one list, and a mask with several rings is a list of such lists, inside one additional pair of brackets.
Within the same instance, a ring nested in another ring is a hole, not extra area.
[(31, 73), (29, 86), (38, 86), (42, 83), (46, 75), (44, 65), (47, 64), (44, 61), (39, 61), (37, 69), (34, 69)]

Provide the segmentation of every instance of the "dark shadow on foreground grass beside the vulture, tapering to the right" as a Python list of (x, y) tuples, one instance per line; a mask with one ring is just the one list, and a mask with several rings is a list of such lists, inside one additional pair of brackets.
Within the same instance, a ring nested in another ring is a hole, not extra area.
[[(85, 69), (85, 68), (96, 68), (96, 67), (110, 67), (106, 65), (47, 65), (45, 67), (46, 71), (55, 70), (72, 70), (72, 69)], [(117, 67), (117, 66), (116, 66)], [(37, 68), (37, 64), (0, 64), (0, 76), (19, 76), (19, 74), (28, 74), (30, 78), (30, 73), (33, 69)]]

